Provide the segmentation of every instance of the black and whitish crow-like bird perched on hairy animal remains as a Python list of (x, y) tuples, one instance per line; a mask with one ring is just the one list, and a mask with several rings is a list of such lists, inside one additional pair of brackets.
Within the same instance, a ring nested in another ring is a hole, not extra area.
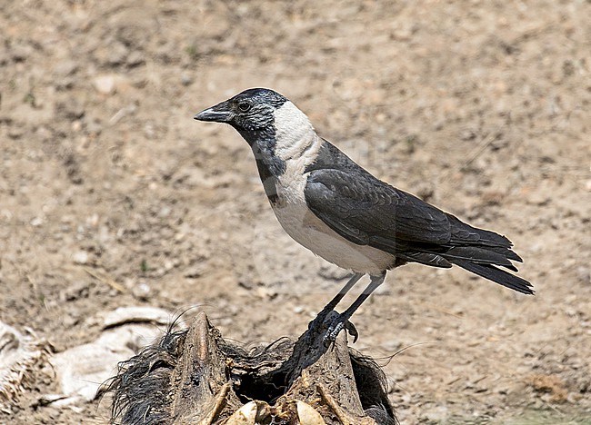
[(325, 340), (349, 319), (386, 278), (408, 262), (449, 269), (453, 265), (524, 294), (533, 286), (516, 276), (523, 262), (513, 243), (473, 227), (451, 213), (385, 183), (318, 135), (306, 114), (284, 95), (251, 88), (195, 115), (229, 124), (252, 149), (266, 197), (295, 242), (353, 272), (317, 318), (333, 311), (365, 275), (369, 284), (342, 313), (331, 314)]

